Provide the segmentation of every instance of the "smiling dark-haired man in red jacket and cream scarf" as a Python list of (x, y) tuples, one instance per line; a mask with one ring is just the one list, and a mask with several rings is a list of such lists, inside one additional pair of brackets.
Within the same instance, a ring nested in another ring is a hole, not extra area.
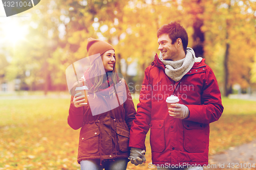
[[(157, 37), (160, 57), (156, 54), (145, 70), (130, 134), (131, 162), (145, 161), (145, 137), (151, 128), (149, 167), (203, 169), (208, 164), (209, 124), (223, 112), (216, 77), (205, 59), (187, 48), (188, 36), (179, 23), (163, 25)], [(172, 104), (175, 108), (167, 108), (170, 95), (179, 98), (179, 104)]]

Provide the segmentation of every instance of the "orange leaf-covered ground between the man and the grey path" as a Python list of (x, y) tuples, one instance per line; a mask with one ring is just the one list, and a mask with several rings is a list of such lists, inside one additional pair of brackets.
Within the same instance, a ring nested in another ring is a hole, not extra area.
[(209, 155), (232, 149), (256, 138), (256, 114), (223, 114), (210, 124)]

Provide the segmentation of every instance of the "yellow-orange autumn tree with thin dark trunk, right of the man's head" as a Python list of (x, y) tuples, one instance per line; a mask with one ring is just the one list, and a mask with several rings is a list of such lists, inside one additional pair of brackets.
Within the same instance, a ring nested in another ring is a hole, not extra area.
[(206, 58), (214, 69), (223, 64), (219, 82), (227, 96), (233, 84), (245, 88), (250, 83), (249, 65), (255, 53), (255, 3), (220, 0), (206, 2), (205, 7)]

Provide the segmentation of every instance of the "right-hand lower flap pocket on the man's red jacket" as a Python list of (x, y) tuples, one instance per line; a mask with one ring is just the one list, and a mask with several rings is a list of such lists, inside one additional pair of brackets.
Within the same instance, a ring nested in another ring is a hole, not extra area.
[(206, 148), (206, 134), (204, 125), (183, 120), (184, 149), (187, 152), (204, 152)]

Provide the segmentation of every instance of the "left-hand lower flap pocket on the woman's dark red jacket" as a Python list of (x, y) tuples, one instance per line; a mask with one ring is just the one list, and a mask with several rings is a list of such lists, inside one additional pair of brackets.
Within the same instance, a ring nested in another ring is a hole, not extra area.
[(96, 153), (99, 150), (99, 128), (90, 129), (80, 135), (81, 150), (84, 154)]

